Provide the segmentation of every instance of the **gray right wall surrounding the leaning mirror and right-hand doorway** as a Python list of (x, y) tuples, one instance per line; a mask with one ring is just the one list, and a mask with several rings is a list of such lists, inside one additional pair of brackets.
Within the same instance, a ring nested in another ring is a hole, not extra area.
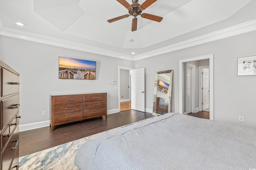
[(172, 112), (179, 112), (179, 60), (214, 54), (214, 120), (256, 128), (256, 76), (237, 76), (237, 58), (256, 55), (255, 44), (252, 31), (135, 61), (135, 68), (146, 70), (146, 108), (153, 108), (155, 72), (174, 70)]

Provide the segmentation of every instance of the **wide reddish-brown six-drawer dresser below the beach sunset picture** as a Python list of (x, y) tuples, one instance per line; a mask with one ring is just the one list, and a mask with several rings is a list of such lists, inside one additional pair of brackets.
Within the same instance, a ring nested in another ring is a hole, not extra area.
[(106, 116), (107, 93), (50, 95), (51, 130), (55, 125)]

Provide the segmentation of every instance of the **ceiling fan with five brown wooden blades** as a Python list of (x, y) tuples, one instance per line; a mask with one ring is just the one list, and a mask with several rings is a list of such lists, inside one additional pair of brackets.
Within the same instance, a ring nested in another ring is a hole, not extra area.
[(159, 17), (159, 16), (142, 13), (143, 10), (148, 8), (151, 4), (153, 4), (157, 0), (146, 0), (141, 5), (138, 4), (138, 0), (132, 0), (132, 4), (129, 4), (126, 0), (117, 0), (117, 1), (129, 10), (129, 14), (119, 16), (116, 18), (112, 18), (112, 19), (108, 20), (109, 23), (117, 21), (117, 20), (121, 20), (123, 18), (127, 18), (129, 16), (134, 16), (134, 18), (132, 19), (132, 31), (136, 31), (137, 30), (137, 21), (138, 21), (138, 18), (136, 18), (136, 17), (139, 15), (142, 18), (146, 18), (148, 20), (153, 20), (153, 21), (157, 21), (157, 22), (161, 22), (163, 19), (162, 17)]

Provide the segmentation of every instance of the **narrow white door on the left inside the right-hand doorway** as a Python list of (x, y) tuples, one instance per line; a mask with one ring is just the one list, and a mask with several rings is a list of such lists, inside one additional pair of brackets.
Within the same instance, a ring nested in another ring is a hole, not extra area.
[(192, 111), (192, 95), (191, 95), (191, 74), (192, 68), (190, 66), (186, 66), (186, 113), (191, 113)]

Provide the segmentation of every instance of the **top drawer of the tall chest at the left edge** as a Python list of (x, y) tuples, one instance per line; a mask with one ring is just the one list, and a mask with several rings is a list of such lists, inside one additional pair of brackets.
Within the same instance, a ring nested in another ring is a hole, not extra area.
[(19, 92), (19, 76), (1, 68), (2, 72), (2, 84), (1, 84), (1, 96), (8, 96), (10, 94), (18, 93)]

